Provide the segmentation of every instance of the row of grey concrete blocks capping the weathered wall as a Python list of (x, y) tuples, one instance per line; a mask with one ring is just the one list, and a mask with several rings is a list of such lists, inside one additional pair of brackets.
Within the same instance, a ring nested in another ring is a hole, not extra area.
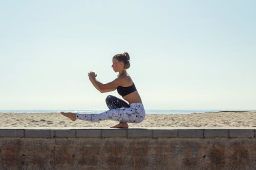
[(254, 137), (256, 129), (212, 129), (212, 128), (83, 128), (83, 129), (47, 129), (47, 128), (1, 128), (0, 137), (24, 138), (63, 138), (63, 137), (124, 137), (124, 138), (212, 138), (212, 137)]

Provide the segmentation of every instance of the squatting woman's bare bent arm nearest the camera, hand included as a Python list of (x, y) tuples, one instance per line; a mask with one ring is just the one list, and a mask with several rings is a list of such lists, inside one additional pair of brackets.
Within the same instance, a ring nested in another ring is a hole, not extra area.
[(119, 85), (121, 85), (121, 80), (118, 79), (118, 78), (115, 79), (115, 80), (113, 80), (113, 81), (110, 82), (110, 83), (103, 84), (103, 83), (99, 82), (99, 81), (96, 79), (97, 75), (96, 75), (94, 72), (90, 72), (90, 73), (88, 74), (88, 76), (89, 76), (89, 79), (90, 79), (90, 81), (92, 82), (93, 86), (94, 86), (97, 90), (99, 90), (101, 93), (103, 93), (103, 92), (109, 92), (109, 91), (114, 91), (114, 90), (117, 89), (117, 87), (118, 87)]

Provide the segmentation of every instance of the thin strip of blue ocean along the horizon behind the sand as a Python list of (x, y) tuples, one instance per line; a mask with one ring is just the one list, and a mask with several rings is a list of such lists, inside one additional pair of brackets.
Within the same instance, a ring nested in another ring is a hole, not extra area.
[[(146, 111), (146, 114), (190, 114), (190, 113), (218, 112), (218, 111), (227, 111), (227, 110), (145, 110), (145, 111)], [(106, 110), (0, 110), (0, 113), (60, 113), (61, 111), (74, 112), (74, 113), (101, 113)], [(229, 110), (229, 111), (252, 111), (252, 110)]]

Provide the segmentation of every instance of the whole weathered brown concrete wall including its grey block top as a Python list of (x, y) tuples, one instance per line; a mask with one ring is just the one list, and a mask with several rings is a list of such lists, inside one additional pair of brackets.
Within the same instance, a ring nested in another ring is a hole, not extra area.
[(0, 129), (0, 169), (256, 169), (254, 129)]

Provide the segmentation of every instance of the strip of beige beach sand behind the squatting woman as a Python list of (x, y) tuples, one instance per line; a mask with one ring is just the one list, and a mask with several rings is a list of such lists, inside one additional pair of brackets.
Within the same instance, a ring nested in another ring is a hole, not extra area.
[[(0, 113), (0, 127), (105, 127), (114, 120), (72, 122), (60, 113)], [(256, 127), (256, 111), (223, 111), (191, 114), (146, 114), (142, 123), (129, 127)]]

